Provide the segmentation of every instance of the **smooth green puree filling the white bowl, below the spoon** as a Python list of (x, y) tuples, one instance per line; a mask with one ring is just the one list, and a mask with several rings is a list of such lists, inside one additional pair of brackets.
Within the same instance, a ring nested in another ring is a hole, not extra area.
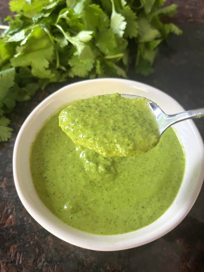
[(168, 209), (185, 157), (169, 128), (147, 153), (104, 158), (76, 146), (56, 114), (36, 136), (30, 169), (40, 199), (63, 222), (88, 233), (120, 234), (152, 223)]

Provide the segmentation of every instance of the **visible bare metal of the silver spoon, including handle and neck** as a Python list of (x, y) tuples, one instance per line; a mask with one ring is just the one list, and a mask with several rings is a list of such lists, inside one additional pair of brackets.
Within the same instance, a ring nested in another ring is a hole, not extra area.
[[(132, 94), (121, 94), (122, 97), (125, 98), (141, 98), (138, 95)], [(174, 115), (168, 115), (163, 112), (163, 110), (154, 102), (149, 100), (149, 105), (153, 110), (153, 114), (156, 116), (160, 135), (169, 127), (174, 125), (175, 123), (181, 122), (186, 119), (193, 118), (201, 118), (204, 117), (204, 108), (196, 109), (196, 110), (188, 110), (186, 112), (177, 113)]]

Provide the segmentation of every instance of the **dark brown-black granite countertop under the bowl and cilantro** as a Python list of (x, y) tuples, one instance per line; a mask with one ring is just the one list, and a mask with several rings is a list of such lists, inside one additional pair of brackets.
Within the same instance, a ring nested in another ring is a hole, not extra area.
[[(204, 106), (204, 1), (179, 4), (174, 20), (182, 36), (171, 36), (156, 59), (155, 72), (129, 78), (161, 89), (186, 110)], [(9, 14), (8, 0), (0, 0), (0, 21)], [(72, 79), (67, 83), (76, 81)], [(18, 130), (28, 114), (63, 84), (52, 84), (10, 114), (13, 138), (0, 144), (0, 271), (128, 271), (204, 272), (204, 187), (187, 217), (165, 236), (138, 248), (99, 252), (70, 245), (42, 228), (20, 202), (14, 186), (12, 153)], [(195, 123), (204, 138), (203, 120)]]

